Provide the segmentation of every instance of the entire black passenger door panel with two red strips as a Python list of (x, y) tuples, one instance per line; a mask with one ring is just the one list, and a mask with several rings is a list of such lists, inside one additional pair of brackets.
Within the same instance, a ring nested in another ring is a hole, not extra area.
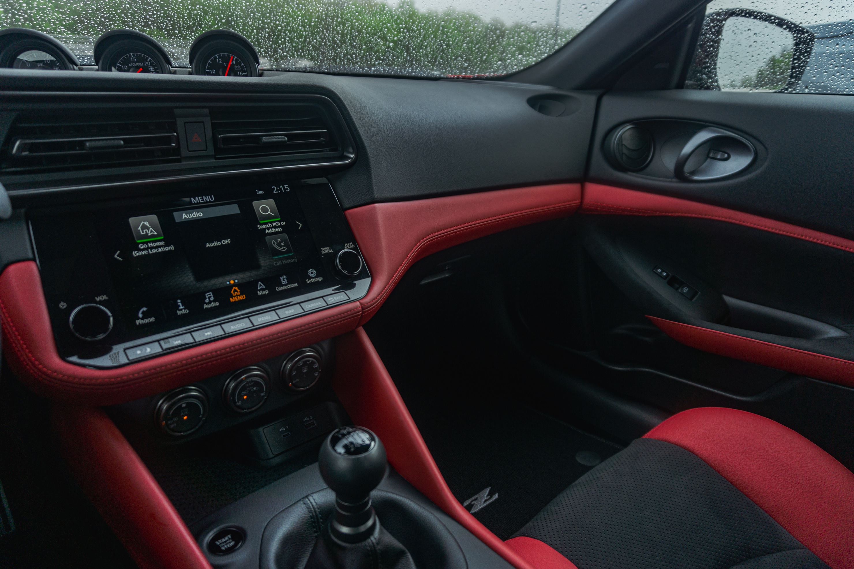
[[(845, 96), (602, 96), (582, 207), (529, 261), (568, 264), (552, 282), (519, 288), (523, 335), (549, 369), (552, 397), (583, 400), (581, 377), (668, 412), (746, 409), (854, 464), (852, 118)], [(687, 129), (655, 138), (640, 171), (618, 169), (609, 136), (645, 121), (730, 131), (757, 156), (720, 180), (678, 179), (662, 148), (687, 142)], [(526, 304), (537, 291), (562, 293), (565, 308)], [(616, 432), (586, 407), (572, 414)]]

